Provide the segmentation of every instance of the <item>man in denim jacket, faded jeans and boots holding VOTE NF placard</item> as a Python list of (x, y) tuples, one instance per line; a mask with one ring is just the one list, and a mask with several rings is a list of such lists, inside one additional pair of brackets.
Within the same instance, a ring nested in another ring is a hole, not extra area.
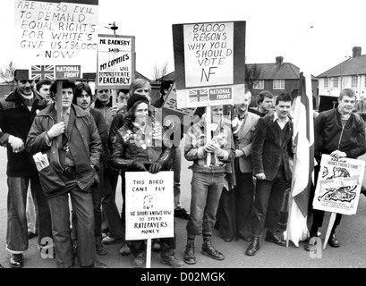
[[(226, 164), (234, 158), (234, 141), (230, 122), (223, 116), (223, 106), (212, 107), (210, 122), (206, 114), (200, 122), (187, 132), (184, 144), (184, 156), (193, 161), (191, 214), (187, 223), (187, 245), (184, 262), (196, 264), (194, 240), (202, 234), (201, 253), (215, 260), (224, 260), (224, 255), (212, 246), (212, 231), (216, 222), (217, 206), (224, 187)], [(206, 138), (209, 128), (212, 138)], [(209, 164), (208, 164), (209, 156)]]

